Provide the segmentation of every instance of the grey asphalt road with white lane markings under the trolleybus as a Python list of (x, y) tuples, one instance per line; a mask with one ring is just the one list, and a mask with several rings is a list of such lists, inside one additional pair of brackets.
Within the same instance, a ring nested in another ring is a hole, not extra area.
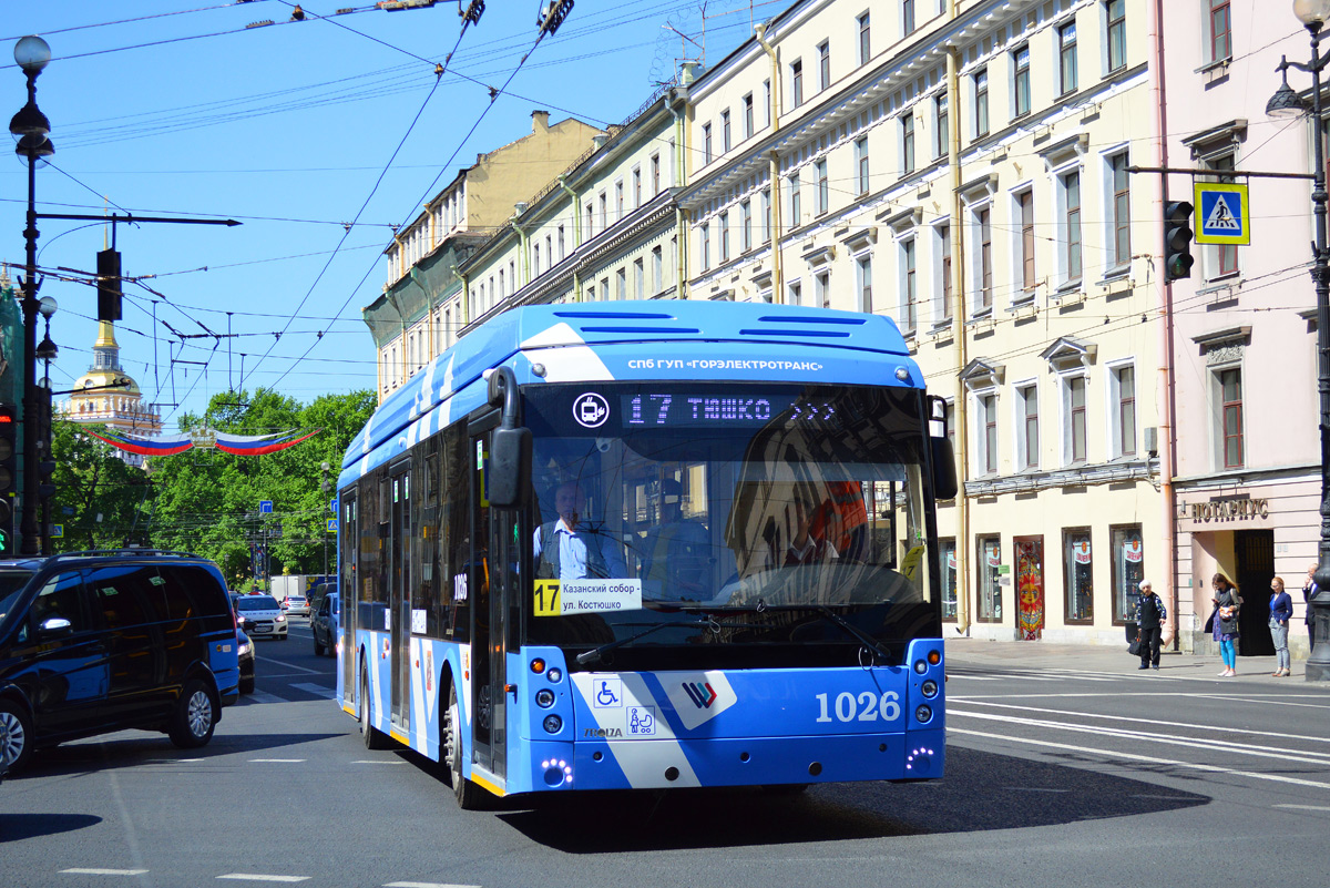
[(368, 752), (305, 621), (206, 748), (125, 731), (0, 786), (8, 885), (1323, 885), (1330, 689), (1273, 665), (948, 645), (947, 776), (460, 812)]

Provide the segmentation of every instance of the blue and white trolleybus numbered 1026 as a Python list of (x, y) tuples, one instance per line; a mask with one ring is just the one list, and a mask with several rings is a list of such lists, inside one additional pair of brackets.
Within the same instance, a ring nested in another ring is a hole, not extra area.
[(943, 420), (887, 318), (508, 311), (347, 449), (342, 707), (463, 808), (940, 778)]

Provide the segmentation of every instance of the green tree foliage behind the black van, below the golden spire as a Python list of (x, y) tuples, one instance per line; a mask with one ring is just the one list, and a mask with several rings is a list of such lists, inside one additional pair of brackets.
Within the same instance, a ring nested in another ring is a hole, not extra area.
[[(52, 443), (57, 463), (53, 520), (64, 516), (65, 538), (53, 542), (57, 550), (134, 542), (194, 552), (217, 561), (237, 586), (251, 574), (254, 545), (266, 545), (274, 574), (322, 573), (325, 546), (329, 561), (335, 560), (327, 520), (335, 517), (329, 504), (336, 495), (342, 456), (374, 407), (368, 391), (325, 395), (303, 405), (263, 388), (253, 395), (217, 395), (202, 416), (182, 416), (180, 428), (207, 425), (233, 435), (322, 431), (263, 456), (194, 447), (149, 459), (148, 472), (80, 435), (82, 427), (60, 423)], [(271, 513), (259, 513), (263, 500), (271, 500)]]

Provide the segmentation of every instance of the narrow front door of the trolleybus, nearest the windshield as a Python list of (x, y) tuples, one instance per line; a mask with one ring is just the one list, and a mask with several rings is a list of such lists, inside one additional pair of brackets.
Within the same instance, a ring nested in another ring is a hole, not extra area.
[(513, 541), (516, 512), (489, 506), (485, 496), (485, 469), (489, 461), (489, 435), (471, 440), (472, 471), (471, 588), (476, 597), (471, 608), (471, 726), (473, 762), (495, 776), (507, 772), (507, 650), (505, 604), (512, 590), (517, 549)]

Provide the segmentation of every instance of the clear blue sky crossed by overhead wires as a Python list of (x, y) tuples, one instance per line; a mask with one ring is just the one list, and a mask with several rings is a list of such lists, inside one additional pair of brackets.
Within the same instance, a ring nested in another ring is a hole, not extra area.
[[(37, 104), (56, 154), (37, 170), (39, 213), (243, 222), (117, 226), (124, 274), (153, 291), (126, 283), (121, 362), (161, 404), (168, 431), (233, 387), (301, 401), (372, 389), (360, 308), (382, 291), (391, 226), (414, 219), (479, 152), (528, 133), (533, 109), (551, 121), (621, 122), (672, 76), (682, 41), (664, 24), (704, 41), (698, 0), (577, 0), (533, 51), (535, 0), (489, 0), (464, 35), (456, 0), (402, 12), (311, 0), (303, 21), (291, 21), (286, 0), (4, 5), (5, 114), (27, 98), (15, 41), (39, 33), (52, 49)], [(786, 5), (708, 3), (710, 60), (746, 39), (750, 20)], [(274, 24), (247, 27), (265, 20)], [(487, 88), (501, 88), (528, 52), (485, 113)], [(19, 266), (27, 193), (25, 161), (0, 161), (0, 259)], [(39, 229), (39, 266), (51, 275), (41, 295), (60, 303), (51, 376), (61, 391), (92, 359), (96, 291), (57, 269), (94, 270), (109, 226), (44, 219)], [(184, 347), (177, 336), (227, 332), (237, 335)]]

